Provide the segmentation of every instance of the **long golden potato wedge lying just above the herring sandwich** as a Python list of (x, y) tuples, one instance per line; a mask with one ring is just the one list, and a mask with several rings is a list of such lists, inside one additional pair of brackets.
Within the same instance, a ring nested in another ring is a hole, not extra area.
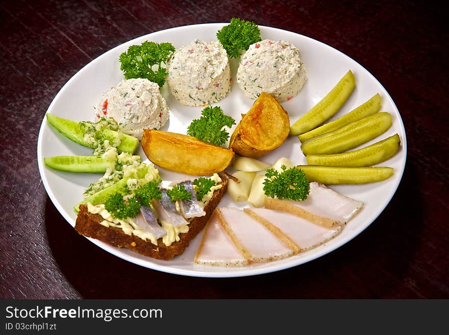
[(191, 175), (210, 175), (226, 169), (234, 159), (232, 149), (196, 137), (145, 129), (142, 148), (154, 164)]

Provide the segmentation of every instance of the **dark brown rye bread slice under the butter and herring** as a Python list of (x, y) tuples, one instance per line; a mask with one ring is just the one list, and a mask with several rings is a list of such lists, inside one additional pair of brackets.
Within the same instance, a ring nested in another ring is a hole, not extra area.
[(223, 175), (220, 177), (222, 187), (214, 192), (212, 198), (206, 204), (204, 208), (206, 215), (194, 218), (189, 224), (189, 231), (185, 234), (180, 234), (180, 240), (173, 242), (168, 247), (162, 242), (162, 238), (158, 240), (158, 245), (155, 245), (137, 236), (127, 235), (120, 228), (106, 227), (100, 224), (103, 221), (102, 216), (89, 213), (86, 204), (80, 205), (75, 230), (81, 235), (106, 242), (119, 248), (127, 248), (158, 260), (171, 260), (174, 256), (182, 254), (189, 246), (190, 241), (205, 227), (224, 193), (226, 193), (228, 179)]

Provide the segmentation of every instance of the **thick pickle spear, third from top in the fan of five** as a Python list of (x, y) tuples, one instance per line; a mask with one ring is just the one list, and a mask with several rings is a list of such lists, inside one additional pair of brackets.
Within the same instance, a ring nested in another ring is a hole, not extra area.
[(391, 126), (388, 112), (377, 112), (351, 122), (335, 131), (313, 137), (301, 145), (306, 156), (310, 154), (340, 153), (385, 133)]

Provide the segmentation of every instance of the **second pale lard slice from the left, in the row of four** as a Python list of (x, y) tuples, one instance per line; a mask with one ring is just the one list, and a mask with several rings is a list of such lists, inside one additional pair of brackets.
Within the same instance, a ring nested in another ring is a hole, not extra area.
[(268, 262), (294, 254), (293, 249), (242, 210), (219, 208), (217, 216), (224, 230), (248, 261)]

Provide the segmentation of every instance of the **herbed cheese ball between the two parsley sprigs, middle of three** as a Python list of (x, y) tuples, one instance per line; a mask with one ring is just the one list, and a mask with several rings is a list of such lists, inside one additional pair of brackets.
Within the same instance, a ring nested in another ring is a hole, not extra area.
[(171, 94), (187, 106), (205, 106), (224, 98), (231, 88), (226, 50), (219, 42), (198, 39), (182, 46), (167, 61)]

